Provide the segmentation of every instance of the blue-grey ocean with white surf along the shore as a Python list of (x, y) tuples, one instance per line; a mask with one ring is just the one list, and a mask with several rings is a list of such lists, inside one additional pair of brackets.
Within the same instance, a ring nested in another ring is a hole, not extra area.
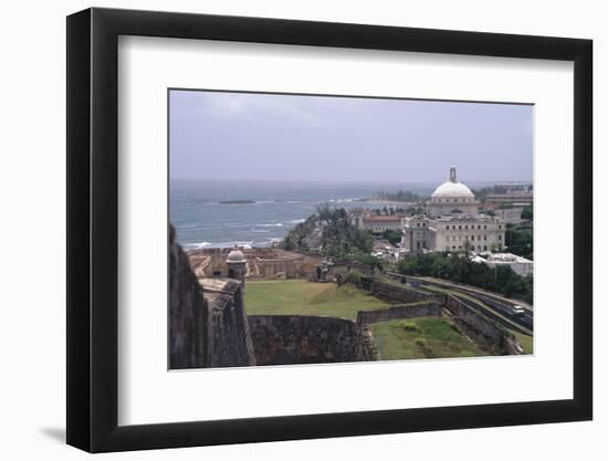
[[(349, 184), (171, 179), (169, 217), (185, 249), (234, 244), (269, 247), (315, 212), (321, 203), (336, 208), (375, 207), (365, 202), (377, 191), (410, 190), (430, 195), (437, 184)], [(227, 201), (247, 203), (226, 203)], [(224, 202), (224, 203), (222, 203)]]

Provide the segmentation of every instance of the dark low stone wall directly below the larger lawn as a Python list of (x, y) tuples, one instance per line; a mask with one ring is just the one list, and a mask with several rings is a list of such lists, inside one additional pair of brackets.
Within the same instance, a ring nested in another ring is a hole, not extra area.
[[(370, 356), (355, 322), (305, 315), (250, 315), (258, 365), (360, 362)], [(369, 358), (367, 358), (369, 359)]]

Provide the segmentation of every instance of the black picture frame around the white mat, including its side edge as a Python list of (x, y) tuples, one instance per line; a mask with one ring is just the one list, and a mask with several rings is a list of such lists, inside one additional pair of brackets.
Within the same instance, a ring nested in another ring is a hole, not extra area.
[[(574, 398), (118, 426), (119, 35), (574, 62)], [(67, 17), (67, 443), (105, 452), (590, 420), (591, 50), (579, 39), (277, 19), (97, 8)]]

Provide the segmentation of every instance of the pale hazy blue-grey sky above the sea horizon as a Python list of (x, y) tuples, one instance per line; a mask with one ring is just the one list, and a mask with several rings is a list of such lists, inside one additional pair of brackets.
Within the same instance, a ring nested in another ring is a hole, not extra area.
[(171, 90), (170, 177), (531, 181), (533, 106)]

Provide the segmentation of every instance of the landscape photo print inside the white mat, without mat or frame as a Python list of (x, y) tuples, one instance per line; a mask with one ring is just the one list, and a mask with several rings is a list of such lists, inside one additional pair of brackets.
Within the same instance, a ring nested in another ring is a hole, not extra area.
[(168, 90), (168, 368), (534, 353), (534, 105)]

